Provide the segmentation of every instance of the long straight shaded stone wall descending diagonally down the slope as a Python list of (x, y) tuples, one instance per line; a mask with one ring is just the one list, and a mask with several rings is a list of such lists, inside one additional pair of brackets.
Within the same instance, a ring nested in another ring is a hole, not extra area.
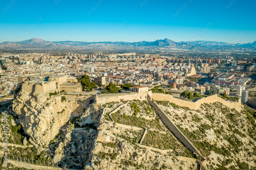
[(176, 127), (176, 125), (167, 117), (167, 115), (163, 112), (163, 110), (156, 104), (155, 101), (152, 101), (152, 98), (148, 96), (148, 103), (152, 105), (155, 109), (156, 113), (162, 119), (162, 122), (165, 126), (167, 126), (170, 131), (174, 133), (174, 135), (191, 151), (195, 152), (197, 155), (202, 157), (200, 152), (196, 149), (196, 147), (186, 138), (186, 136)]

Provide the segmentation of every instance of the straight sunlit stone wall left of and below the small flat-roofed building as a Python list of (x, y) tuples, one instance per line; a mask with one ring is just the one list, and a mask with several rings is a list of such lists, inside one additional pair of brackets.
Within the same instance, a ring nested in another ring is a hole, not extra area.
[(109, 102), (121, 102), (121, 101), (127, 101), (127, 100), (147, 100), (147, 95), (152, 95), (152, 91), (146, 91), (146, 92), (133, 92), (133, 93), (119, 93), (117, 95), (113, 94), (102, 94), (97, 95), (98, 99), (97, 101), (99, 103), (109, 103)]

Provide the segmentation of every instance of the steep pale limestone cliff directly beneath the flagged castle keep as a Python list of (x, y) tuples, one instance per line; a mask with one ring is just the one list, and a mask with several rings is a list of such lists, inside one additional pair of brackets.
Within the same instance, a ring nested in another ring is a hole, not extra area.
[(70, 118), (80, 116), (82, 110), (89, 106), (90, 100), (95, 100), (95, 96), (59, 94), (50, 97), (37, 92), (29, 96), (28, 93), (20, 91), (12, 106), (19, 116), (20, 124), (30, 136), (31, 144), (42, 150), (42, 146), (49, 144), (62, 125)]

